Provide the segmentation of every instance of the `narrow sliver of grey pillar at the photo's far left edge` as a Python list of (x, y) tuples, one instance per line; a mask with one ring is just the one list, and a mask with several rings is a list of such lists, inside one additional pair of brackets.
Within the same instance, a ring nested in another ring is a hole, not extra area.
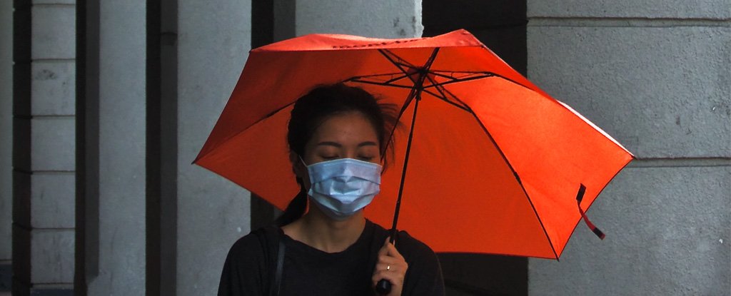
[(12, 2), (0, 2), (0, 291), (12, 259)]

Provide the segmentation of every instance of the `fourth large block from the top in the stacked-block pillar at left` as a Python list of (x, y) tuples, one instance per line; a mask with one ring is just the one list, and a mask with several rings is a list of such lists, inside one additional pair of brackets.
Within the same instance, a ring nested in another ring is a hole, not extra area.
[(32, 227), (74, 228), (75, 178), (73, 172), (31, 176)]

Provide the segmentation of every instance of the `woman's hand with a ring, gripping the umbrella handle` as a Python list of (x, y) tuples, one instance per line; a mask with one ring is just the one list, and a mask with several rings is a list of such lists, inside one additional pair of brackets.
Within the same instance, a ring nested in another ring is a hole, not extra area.
[(409, 265), (406, 264), (404, 257), (386, 238), (383, 247), (378, 251), (378, 262), (376, 262), (376, 269), (373, 271), (373, 277), (371, 278), (374, 290), (376, 284), (385, 279), (391, 282), (391, 292), (387, 296), (400, 296), (401, 289), (404, 289), (404, 278), (408, 268)]

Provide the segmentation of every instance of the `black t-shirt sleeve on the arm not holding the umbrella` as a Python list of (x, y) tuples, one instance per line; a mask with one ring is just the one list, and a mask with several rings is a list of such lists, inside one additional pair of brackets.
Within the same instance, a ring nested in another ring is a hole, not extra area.
[(236, 241), (224, 262), (218, 295), (264, 295), (265, 258), (264, 246), (256, 235), (249, 234)]

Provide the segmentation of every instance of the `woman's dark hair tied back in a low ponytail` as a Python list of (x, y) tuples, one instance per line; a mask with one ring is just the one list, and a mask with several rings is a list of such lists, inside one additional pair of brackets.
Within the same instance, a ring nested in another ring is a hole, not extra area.
[[(395, 106), (379, 104), (368, 91), (344, 83), (317, 86), (300, 97), (292, 108), (292, 115), (287, 126), (287, 143), (289, 151), (303, 156), (305, 145), (317, 128), (330, 116), (358, 112), (371, 122), (378, 136), (381, 157), (384, 167), (387, 166), (387, 151), (393, 151), (392, 134), (398, 122)], [(393, 154), (393, 153), (390, 153)], [(299, 219), (307, 207), (307, 192), (303, 181), (297, 178), (300, 192), (289, 202), (284, 213), (275, 223), (284, 226)]]

